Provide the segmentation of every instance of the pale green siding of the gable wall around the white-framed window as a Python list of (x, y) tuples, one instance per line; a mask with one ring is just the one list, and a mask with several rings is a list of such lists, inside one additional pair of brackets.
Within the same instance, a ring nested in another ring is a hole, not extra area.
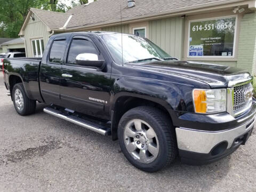
[(46, 46), (49, 39), (49, 32), (47, 32), (46, 25), (34, 15), (35, 21), (29, 20), (25, 28), (25, 39), (26, 39), (26, 54), (27, 57), (33, 57), (33, 50), (31, 39), (43, 38), (44, 47)]

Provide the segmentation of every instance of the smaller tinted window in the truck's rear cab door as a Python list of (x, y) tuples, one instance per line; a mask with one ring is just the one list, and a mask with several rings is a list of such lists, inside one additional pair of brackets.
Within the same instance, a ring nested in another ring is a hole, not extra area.
[(54, 63), (61, 63), (64, 58), (66, 49), (66, 40), (57, 40), (52, 44), (49, 61)]

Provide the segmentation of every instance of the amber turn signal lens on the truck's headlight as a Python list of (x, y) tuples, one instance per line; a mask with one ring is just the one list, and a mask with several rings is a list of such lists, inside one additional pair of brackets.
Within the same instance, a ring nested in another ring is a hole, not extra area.
[(196, 113), (206, 113), (206, 92), (204, 90), (194, 90), (193, 95)]

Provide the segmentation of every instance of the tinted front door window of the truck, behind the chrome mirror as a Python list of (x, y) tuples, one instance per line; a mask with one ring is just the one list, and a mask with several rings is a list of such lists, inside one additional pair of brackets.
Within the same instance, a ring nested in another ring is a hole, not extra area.
[(73, 39), (69, 48), (67, 63), (76, 65), (76, 57), (81, 53), (94, 53), (99, 55), (92, 42), (86, 39)]

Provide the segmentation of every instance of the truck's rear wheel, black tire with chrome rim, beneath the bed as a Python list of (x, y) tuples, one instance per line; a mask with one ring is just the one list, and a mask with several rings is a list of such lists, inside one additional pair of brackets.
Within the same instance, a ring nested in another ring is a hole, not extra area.
[(27, 97), (22, 83), (17, 83), (12, 89), (12, 100), (15, 110), (19, 115), (26, 116), (34, 114), (36, 110), (36, 100)]

